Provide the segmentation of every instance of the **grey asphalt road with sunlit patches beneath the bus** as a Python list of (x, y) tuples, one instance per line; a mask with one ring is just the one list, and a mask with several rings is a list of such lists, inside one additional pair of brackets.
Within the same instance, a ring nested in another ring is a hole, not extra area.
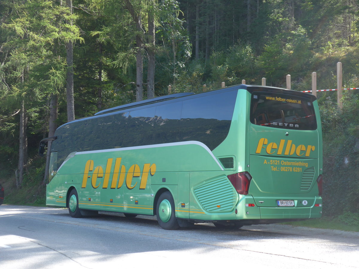
[[(0, 268), (359, 268), (359, 233), (212, 224), (167, 231), (155, 217), (0, 206)], [(229, 267), (230, 266), (230, 267)]]

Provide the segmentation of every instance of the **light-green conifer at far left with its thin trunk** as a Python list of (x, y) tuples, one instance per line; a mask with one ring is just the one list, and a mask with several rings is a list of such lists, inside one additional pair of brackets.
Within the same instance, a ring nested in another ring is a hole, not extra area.
[(80, 37), (78, 27), (65, 25), (73, 15), (56, 1), (9, 1), (8, 4), (11, 8), (0, 25), (1, 32), (7, 33), (1, 44), (0, 88), (2, 99), (7, 100), (4, 104), (10, 111), (18, 108), (21, 115), (17, 184), (21, 187), (27, 164), (27, 126), (42, 121), (39, 112), (46, 104), (44, 101), (63, 90), (66, 54), (62, 45)]

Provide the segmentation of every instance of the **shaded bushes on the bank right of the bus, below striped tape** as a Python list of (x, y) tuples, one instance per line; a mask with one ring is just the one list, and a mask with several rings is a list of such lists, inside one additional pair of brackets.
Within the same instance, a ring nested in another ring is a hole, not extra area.
[(327, 216), (359, 212), (359, 93), (345, 91), (343, 108), (327, 99), (321, 106), (323, 126), (323, 211)]

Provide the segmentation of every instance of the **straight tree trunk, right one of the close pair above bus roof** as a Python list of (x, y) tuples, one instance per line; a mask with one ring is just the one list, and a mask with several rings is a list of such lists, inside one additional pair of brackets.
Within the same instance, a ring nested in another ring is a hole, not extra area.
[(147, 69), (147, 98), (155, 97), (155, 16), (154, 1), (151, 0), (148, 12), (148, 69)]

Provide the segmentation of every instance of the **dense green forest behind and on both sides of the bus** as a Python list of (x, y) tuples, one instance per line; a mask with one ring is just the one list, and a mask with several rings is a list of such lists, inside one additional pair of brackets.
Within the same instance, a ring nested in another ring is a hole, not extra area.
[[(359, 87), (357, 0), (0, 0), (0, 182), (44, 204), (39, 141), (99, 110), (261, 84)], [(204, 88), (203, 85), (206, 85)], [(359, 226), (359, 90), (318, 93), (324, 216)]]

